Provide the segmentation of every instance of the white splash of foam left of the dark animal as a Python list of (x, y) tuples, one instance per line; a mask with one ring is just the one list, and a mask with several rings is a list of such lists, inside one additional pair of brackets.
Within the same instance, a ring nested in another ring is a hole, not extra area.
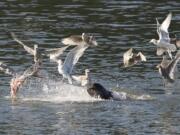
[(62, 82), (46, 80), (43, 82), (28, 82), (18, 94), (22, 100), (40, 100), (50, 102), (93, 102), (99, 101), (89, 96), (85, 87)]

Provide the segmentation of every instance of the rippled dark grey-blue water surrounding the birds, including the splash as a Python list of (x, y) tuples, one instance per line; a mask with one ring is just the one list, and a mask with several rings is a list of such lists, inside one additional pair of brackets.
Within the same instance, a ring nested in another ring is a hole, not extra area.
[[(87, 32), (99, 46), (88, 48), (74, 72), (91, 70), (93, 80), (106, 88), (130, 94), (147, 94), (152, 100), (103, 101), (85, 88), (62, 86), (55, 63), (44, 59), (44, 80), (31, 79), (23, 86), (17, 102), (9, 99), (10, 77), (0, 74), (0, 134), (180, 134), (178, 77), (164, 88), (155, 68), (161, 57), (148, 44), (157, 38), (156, 21), (169, 11), (169, 31), (180, 37), (178, 1), (43, 1), (1, 0), (0, 60), (23, 71), (32, 56), (15, 43), (8, 31), (26, 44), (41, 48), (60, 47), (61, 38)], [(121, 68), (123, 53), (130, 47), (142, 51), (147, 62)]]

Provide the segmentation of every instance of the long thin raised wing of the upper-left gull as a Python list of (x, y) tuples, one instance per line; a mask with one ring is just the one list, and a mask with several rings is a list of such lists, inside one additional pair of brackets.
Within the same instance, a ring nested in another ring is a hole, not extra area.
[(24, 47), (24, 49), (25, 49), (28, 53), (30, 53), (31, 55), (34, 55), (34, 53), (35, 53), (34, 49), (28, 47), (28, 46), (25, 45), (22, 41), (20, 41), (13, 32), (11, 32), (11, 36), (12, 36), (12, 38), (13, 38), (17, 43), (19, 43), (20, 45), (22, 45), (22, 46)]

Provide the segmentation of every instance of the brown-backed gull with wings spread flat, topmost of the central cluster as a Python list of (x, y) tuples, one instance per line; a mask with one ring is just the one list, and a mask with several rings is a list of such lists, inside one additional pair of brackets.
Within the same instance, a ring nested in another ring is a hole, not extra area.
[(82, 33), (82, 35), (72, 35), (70, 37), (63, 38), (61, 42), (64, 45), (98, 45), (94, 36), (88, 36), (86, 33)]

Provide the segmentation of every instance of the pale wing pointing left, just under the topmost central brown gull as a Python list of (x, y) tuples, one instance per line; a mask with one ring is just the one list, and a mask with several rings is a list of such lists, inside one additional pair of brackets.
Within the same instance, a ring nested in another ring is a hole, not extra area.
[(62, 55), (68, 47), (69, 46), (46, 50), (46, 55), (49, 56), (51, 60), (56, 61), (57, 58)]

